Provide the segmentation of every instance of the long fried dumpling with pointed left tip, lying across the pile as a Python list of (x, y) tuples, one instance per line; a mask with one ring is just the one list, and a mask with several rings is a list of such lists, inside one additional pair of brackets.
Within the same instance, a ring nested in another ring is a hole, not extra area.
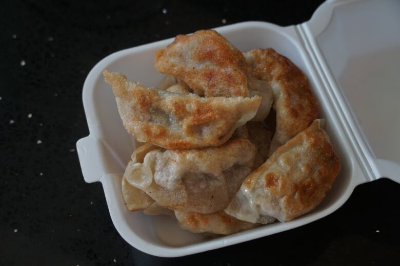
[(261, 97), (210, 97), (177, 94), (131, 82), (121, 73), (103, 72), (112, 86), (125, 128), (139, 142), (168, 149), (219, 146), (252, 119)]

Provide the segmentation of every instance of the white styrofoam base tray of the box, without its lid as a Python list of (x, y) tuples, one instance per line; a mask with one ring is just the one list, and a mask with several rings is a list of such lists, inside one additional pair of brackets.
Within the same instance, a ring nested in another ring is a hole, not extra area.
[[(183, 256), (302, 226), (342, 206), (357, 184), (368, 181), (337, 118), (334, 106), (325, 92), (324, 84), (318, 78), (319, 74), (314, 70), (313, 63), (304, 50), (294, 26), (282, 28), (268, 23), (251, 22), (216, 30), (242, 51), (272, 47), (290, 58), (306, 73), (318, 98), (320, 117), (326, 118), (326, 131), (342, 159), (342, 171), (323, 203), (311, 213), (287, 223), (276, 223), (215, 239), (185, 232), (169, 217), (129, 212), (121, 195), (121, 173), (124, 170), (123, 165), (130, 159), (134, 143), (122, 126), (115, 99), (111, 88), (104, 82), (102, 71), (104, 69), (121, 71), (131, 80), (140, 81), (146, 86), (155, 86), (162, 75), (153, 69), (154, 53), (172, 40), (114, 53), (92, 69), (84, 84), (83, 101), (90, 137), (77, 143), (79, 150), (86, 149), (86, 152), (79, 152), (79, 161), (86, 181), (101, 179), (110, 215), (118, 232), (132, 246), (149, 254), (166, 257)], [(93, 152), (87, 152), (88, 149)]]

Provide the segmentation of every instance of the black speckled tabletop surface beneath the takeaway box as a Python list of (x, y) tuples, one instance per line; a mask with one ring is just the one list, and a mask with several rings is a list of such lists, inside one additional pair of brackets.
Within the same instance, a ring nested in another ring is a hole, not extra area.
[(201, 3), (2, 2), (0, 265), (400, 264), (400, 185), (387, 179), (357, 187), (312, 224), (202, 254), (158, 258), (118, 235), (101, 184), (84, 182), (75, 151), (88, 135), (82, 86), (93, 65), (223, 19), (302, 23), (321, 1)]

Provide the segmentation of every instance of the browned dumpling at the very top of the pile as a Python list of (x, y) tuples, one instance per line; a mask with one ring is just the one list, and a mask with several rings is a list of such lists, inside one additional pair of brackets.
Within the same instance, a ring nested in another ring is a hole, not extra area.
[(214, 30), (176, 36), (156, 52), (154, 68), (182, 79), (198, 95), (247, 97), (245, 57)]

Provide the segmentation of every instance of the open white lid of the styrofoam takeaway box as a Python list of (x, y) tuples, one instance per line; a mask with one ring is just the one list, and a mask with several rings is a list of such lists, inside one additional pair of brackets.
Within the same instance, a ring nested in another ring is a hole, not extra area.
[(332, 2), (317, 11), (304, 29), (358, 157), (374, 178), (398, 181), (400, 2)]

